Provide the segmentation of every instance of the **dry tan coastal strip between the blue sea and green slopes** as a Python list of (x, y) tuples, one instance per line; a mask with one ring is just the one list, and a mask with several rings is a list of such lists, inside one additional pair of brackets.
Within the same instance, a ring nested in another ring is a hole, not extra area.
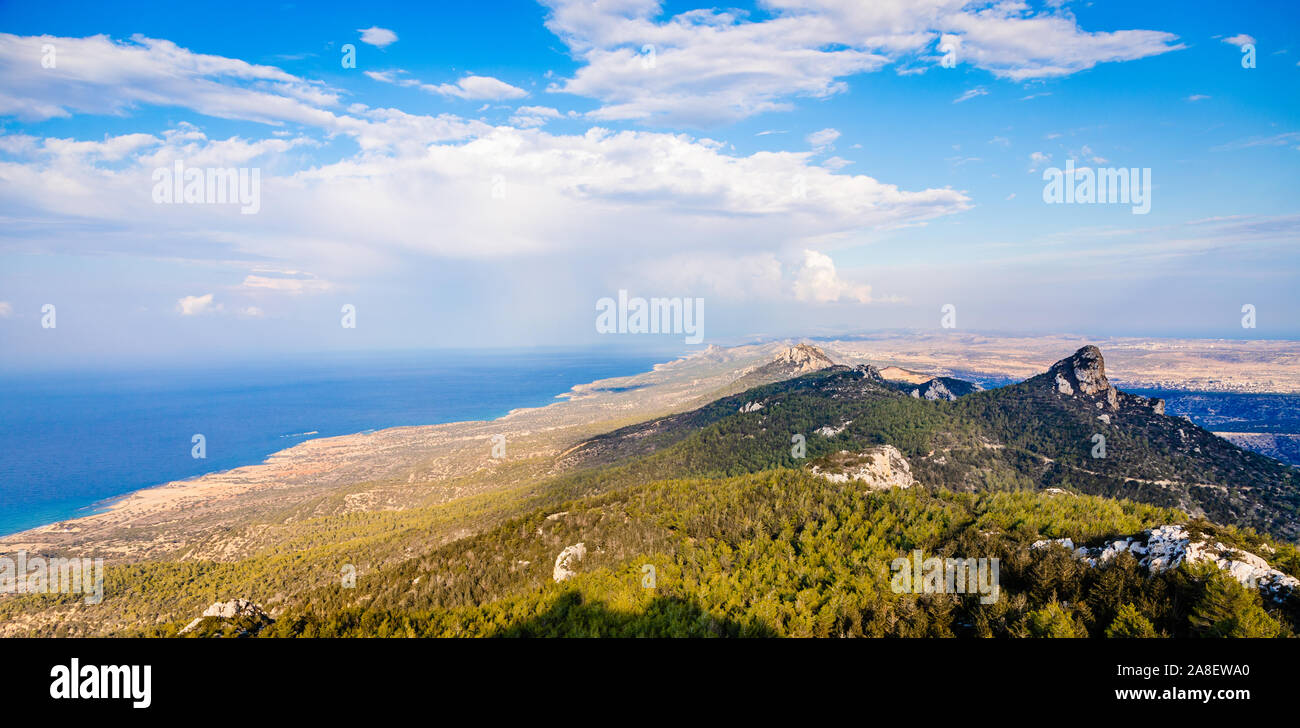
[[(485, 462), (495, 467), (498, 463), (488, 458), (494, 434), (510, 438), (511, 456), (506, 462), (555, 454), (571, 438), (597, 434), (608, 422), (630, 417), (630, 424), (694, 402), (734, 378), (737, 367), (746, 368), (776, 347), (780, 344), (738, 347), (716, 359), (705, 356), (705, 351), (684, 354), (633, 374), (580, 382), (547, 395), (545, 404), (515, 407), (490, 420), (399, 425), (306, 439), (257, 463), (136, 489), (101, 499), (94, 514), (0, 536), (0, 554), (77, 549), (108, 558), (162, 555), (181, 550), (200, 532), (217, 530), (217, 524), (200, 523), (208, 514), (256, 510), (277, 497), (291, 500), (299, 493), (320, 494), (374, 480), (433, 486), (481, 469)], [(682, 377), (689, 382), (682, 384)], [(451, 463), (422, 471), (420, 465), (430, 458)], [(355, 510), (365, 510), (364, 499), (358, 502)], [(165, 526), (177, 536), (147, 541), (144, 526)]]

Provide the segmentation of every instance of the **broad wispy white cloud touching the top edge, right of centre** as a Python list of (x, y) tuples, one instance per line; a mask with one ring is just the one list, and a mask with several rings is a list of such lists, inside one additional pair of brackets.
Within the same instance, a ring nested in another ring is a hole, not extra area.
[(1148, 30), (1089, 32), (1063, 9), (968, 0), (766, 0), (763, 20), (697, 9), (662, 18), (658, 0), (542, 0), (546, 26), (584, 65), (552, 84), (598, 99), (597, 120), (708, 125), (823, 99), (846, 78), (930, 62), (940, 38), (958, 62), (1024, 81), (1182, 48)]

